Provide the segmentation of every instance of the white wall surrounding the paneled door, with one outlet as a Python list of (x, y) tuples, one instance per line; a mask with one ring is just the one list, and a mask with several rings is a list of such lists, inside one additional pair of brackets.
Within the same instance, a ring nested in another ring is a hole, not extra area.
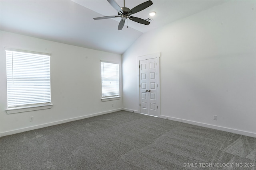
[(122, 55), (124, 108), (138, 111), (136, 58), (160, 52), (162, 118), (256, 137), (255, 11), (231, 1), (144, 33)]

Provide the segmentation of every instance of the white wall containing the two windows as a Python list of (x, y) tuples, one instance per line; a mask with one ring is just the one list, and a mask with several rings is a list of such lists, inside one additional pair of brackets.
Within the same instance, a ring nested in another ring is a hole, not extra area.
[[(50, 71), (53, 104), (51, 109), (14, 114), (6, 113), (6, 56), (4, 47), (51, 53)], [(2, 136), (122, 109), (122, 97), (120, 100), (107, 102), (100, 100), (100, 61), (120, 63), (121, 71), (121, 55), (5, 31), (1, 31), (0, 50), (0, 132)], [(122, 82), (122, 79), (120, 81)], [(122, 94), (122, 84), (120, 89), (120, 94)], [(29, 121), (30, 116), (34, 116), (34, 121)]]

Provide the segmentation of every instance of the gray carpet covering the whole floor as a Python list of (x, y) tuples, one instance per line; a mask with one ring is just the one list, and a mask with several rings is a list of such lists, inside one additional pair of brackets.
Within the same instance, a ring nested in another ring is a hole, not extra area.
[(256, 138), (128, 111), (1, 137), (0, 147), (1, 170), (253, 170), (256, 163)]

